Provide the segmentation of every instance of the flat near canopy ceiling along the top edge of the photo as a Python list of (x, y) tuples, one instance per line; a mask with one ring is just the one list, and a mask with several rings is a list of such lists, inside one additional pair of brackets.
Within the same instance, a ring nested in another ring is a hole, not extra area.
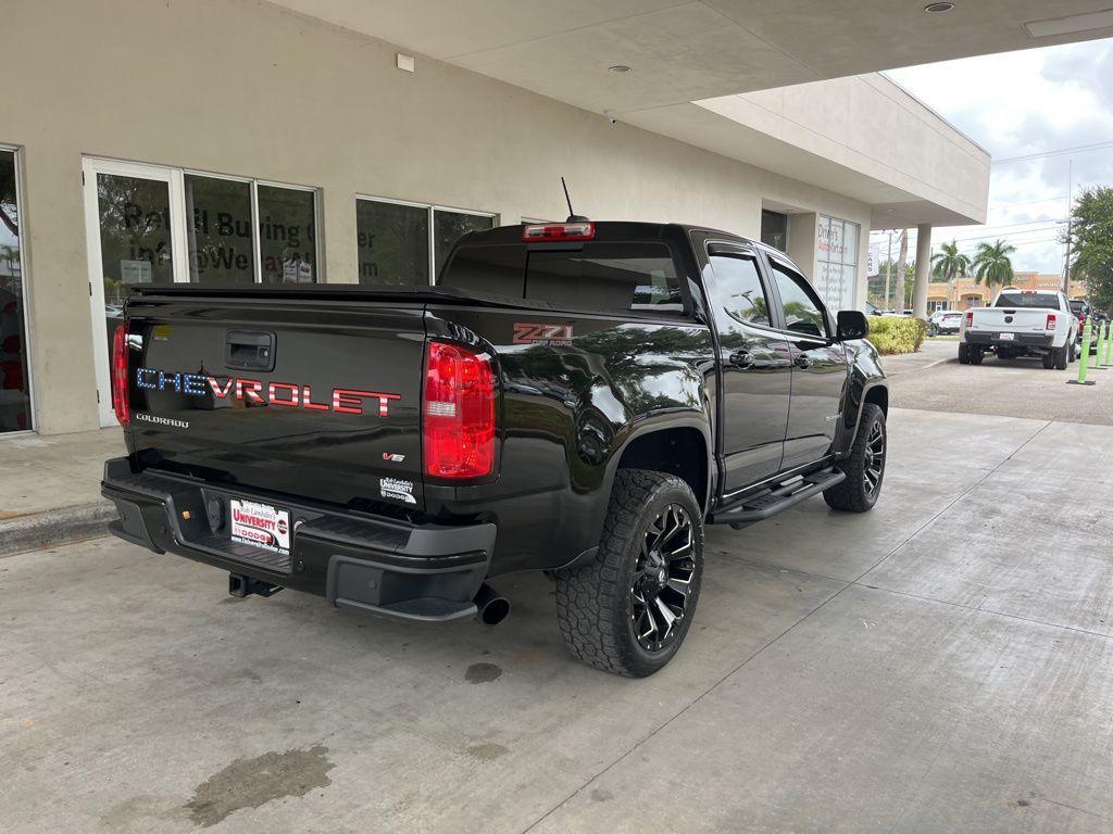
[(1113, 36), (1110, 0), (273, 2), (595, 112)]

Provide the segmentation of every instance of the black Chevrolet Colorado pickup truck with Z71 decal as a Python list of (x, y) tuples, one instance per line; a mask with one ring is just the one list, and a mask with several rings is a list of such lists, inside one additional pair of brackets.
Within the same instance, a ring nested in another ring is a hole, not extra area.
[(703, 526), (864, 512), (888, 389), (857, 311), (781, 252), (670, 224), (502, 227), (439, 284), (138, 287), (116, 331), (110, 530), (420, 622), (493, 624), (544, 570), (571, 652), (676, 654)]

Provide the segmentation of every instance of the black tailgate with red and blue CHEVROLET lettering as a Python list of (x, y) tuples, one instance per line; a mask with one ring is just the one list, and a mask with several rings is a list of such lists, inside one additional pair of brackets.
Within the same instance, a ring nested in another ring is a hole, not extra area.
[(422, 304), (396, 300), (131, 299), (139, 465), (303, 499), (422, 509), (423, 316)]

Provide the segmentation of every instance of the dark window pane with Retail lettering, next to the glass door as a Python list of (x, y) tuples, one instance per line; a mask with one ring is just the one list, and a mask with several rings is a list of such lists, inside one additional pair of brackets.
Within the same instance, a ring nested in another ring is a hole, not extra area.
[(254, 284), (252, 183), (185, 175), (189, 280)]

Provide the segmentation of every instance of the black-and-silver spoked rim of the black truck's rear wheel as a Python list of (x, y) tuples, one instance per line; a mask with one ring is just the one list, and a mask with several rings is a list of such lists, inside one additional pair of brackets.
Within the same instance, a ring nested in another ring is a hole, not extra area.
[(661, 652), (677, 636), (691, 589), (696, 528), (688, 512), (669, 504), (650, 522), (630, 586), (630, 628), (647, 652)]

